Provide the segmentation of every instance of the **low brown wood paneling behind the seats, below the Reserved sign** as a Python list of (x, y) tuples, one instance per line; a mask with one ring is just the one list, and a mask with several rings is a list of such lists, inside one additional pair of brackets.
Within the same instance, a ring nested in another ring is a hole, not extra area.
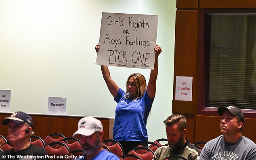
[[(63, 134), (65, 137), (72, 137), (73, 133), (78, 129), (78, 121), (81, 116), (59, 116), (59, 115), (36, 115), (29, 114), (34, 123), (34, 135), (38, 135), (41, 138), (46, 137), (48, 134), (57, 132)], [(0, 134), (7, 137), (8, 127), (2, 125), (2, 120), (5, 117), (9, 117), (10, 113), (0, 113)], [(113, 119), (99, 118), (103, 125), (104, 135), (103, 139), (113, 138)]]

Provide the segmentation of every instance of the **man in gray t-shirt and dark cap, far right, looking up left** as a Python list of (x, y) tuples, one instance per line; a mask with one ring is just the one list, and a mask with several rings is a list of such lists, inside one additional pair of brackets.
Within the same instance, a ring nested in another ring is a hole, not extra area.
[(243, 136), (244, 115), (235, 106), (221, 106), (220, 131), (222, 135), (210, 140), (199, 160), (256, 160), (256, 144)]

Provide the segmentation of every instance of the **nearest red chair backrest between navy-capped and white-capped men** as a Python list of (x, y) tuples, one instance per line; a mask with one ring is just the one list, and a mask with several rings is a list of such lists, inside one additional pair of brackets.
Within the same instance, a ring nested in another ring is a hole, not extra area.
[[(61, 145), (61, 148), (55, 148), (56, 145)], [(70, 153), (70, 150), (66, 144), (61, 142), (52, 142), (44, 147), (48, 154), (58, 154), (58, 155), (67, 155)]]

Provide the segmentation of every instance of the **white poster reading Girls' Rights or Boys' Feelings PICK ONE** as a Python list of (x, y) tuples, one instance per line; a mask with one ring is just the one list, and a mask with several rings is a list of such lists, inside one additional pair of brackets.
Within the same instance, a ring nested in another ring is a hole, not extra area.
[(158, 16), (102, 13), (96, 64), (153, 69)]

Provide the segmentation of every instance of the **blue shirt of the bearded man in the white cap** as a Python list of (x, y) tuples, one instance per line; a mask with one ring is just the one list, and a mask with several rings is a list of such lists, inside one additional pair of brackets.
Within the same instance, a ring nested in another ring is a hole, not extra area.
[[(83, 158), (76, 158), (76, 160), (87, 160), (87, 158), (84, 154)], [(106, 150), (102, 150), (101, 152), (99, 152), (99, 154), (97, 154), (97, 156), (95, 156), (91, 160), (120, 160), (120, 158), (118, 158), (118, 156), (116, 156), (113, 153), (107, 152)]]

